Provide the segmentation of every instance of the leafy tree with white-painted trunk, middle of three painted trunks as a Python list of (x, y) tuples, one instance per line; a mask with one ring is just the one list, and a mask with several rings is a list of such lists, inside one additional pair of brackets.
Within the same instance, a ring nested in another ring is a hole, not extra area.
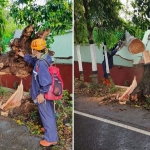
[[(99, 30), (99, 33), (109, 33), (114, 30), (122, 22), (119, 19), (119, 10), (121, 9), (121, 3), (118, 0), (99, 1), (99, 0), (82, 0), (81, 5), (84, 7), (84, 20), (87, 25), (88, 42), (90, 44), (90, 52), (92, 59), (92, 73), (94, 81), (97, 82), (97, 64), (96, 54), (94, 46), (93, 31), (95, 28)], [(76, 7), (76, 5), (75, 5)], [(105, 40), (108, 36), (105, 36)], [(104, 41), (103, 41), (104, 42)]]

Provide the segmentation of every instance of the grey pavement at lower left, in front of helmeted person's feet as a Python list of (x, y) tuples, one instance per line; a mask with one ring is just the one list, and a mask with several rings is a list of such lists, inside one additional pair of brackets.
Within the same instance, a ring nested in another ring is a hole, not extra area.
[(42, 138), (30, 136), (25, 126), (18, 126), (12, 119), (0, 116), (0, 150), (50, 150), (43, 148)]

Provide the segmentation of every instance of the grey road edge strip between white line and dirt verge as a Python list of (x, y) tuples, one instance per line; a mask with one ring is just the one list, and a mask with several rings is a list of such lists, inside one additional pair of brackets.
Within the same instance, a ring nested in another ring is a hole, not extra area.
[(150, 131), (150, 111), (118, 103), (99, 106), (99, 98), (75, 94), (74, 109)]

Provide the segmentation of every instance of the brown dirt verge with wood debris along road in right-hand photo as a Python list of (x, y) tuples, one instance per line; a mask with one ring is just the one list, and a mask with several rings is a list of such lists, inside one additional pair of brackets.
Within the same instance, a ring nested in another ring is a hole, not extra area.
[[(83, 95), (84, 97), (97, 97), (99, 99), (99, 105), (107, 105), (110, 103), (119, 103), (119, 97), (127, 90), (127, 86), (117, 86), (111, 81), (111, 86), (106, 86), (102, 83), (94, 84), (89, 82), (83, 82), (75, 80), (75, 93)], [(133, 101), (130, 96), (126, 100), (126, 105), (133, 107), (143, 107), (150, 110), (150, 101), (138, 100)]]

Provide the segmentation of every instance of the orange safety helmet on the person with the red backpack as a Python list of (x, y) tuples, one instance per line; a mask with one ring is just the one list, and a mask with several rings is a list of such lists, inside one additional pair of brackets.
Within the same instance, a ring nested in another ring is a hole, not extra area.
[(43, 50), (44, 48), (46, 48), (46, 42), (43, 39), (33, 40), (31, 43), (31, 48), (38, 51)]

